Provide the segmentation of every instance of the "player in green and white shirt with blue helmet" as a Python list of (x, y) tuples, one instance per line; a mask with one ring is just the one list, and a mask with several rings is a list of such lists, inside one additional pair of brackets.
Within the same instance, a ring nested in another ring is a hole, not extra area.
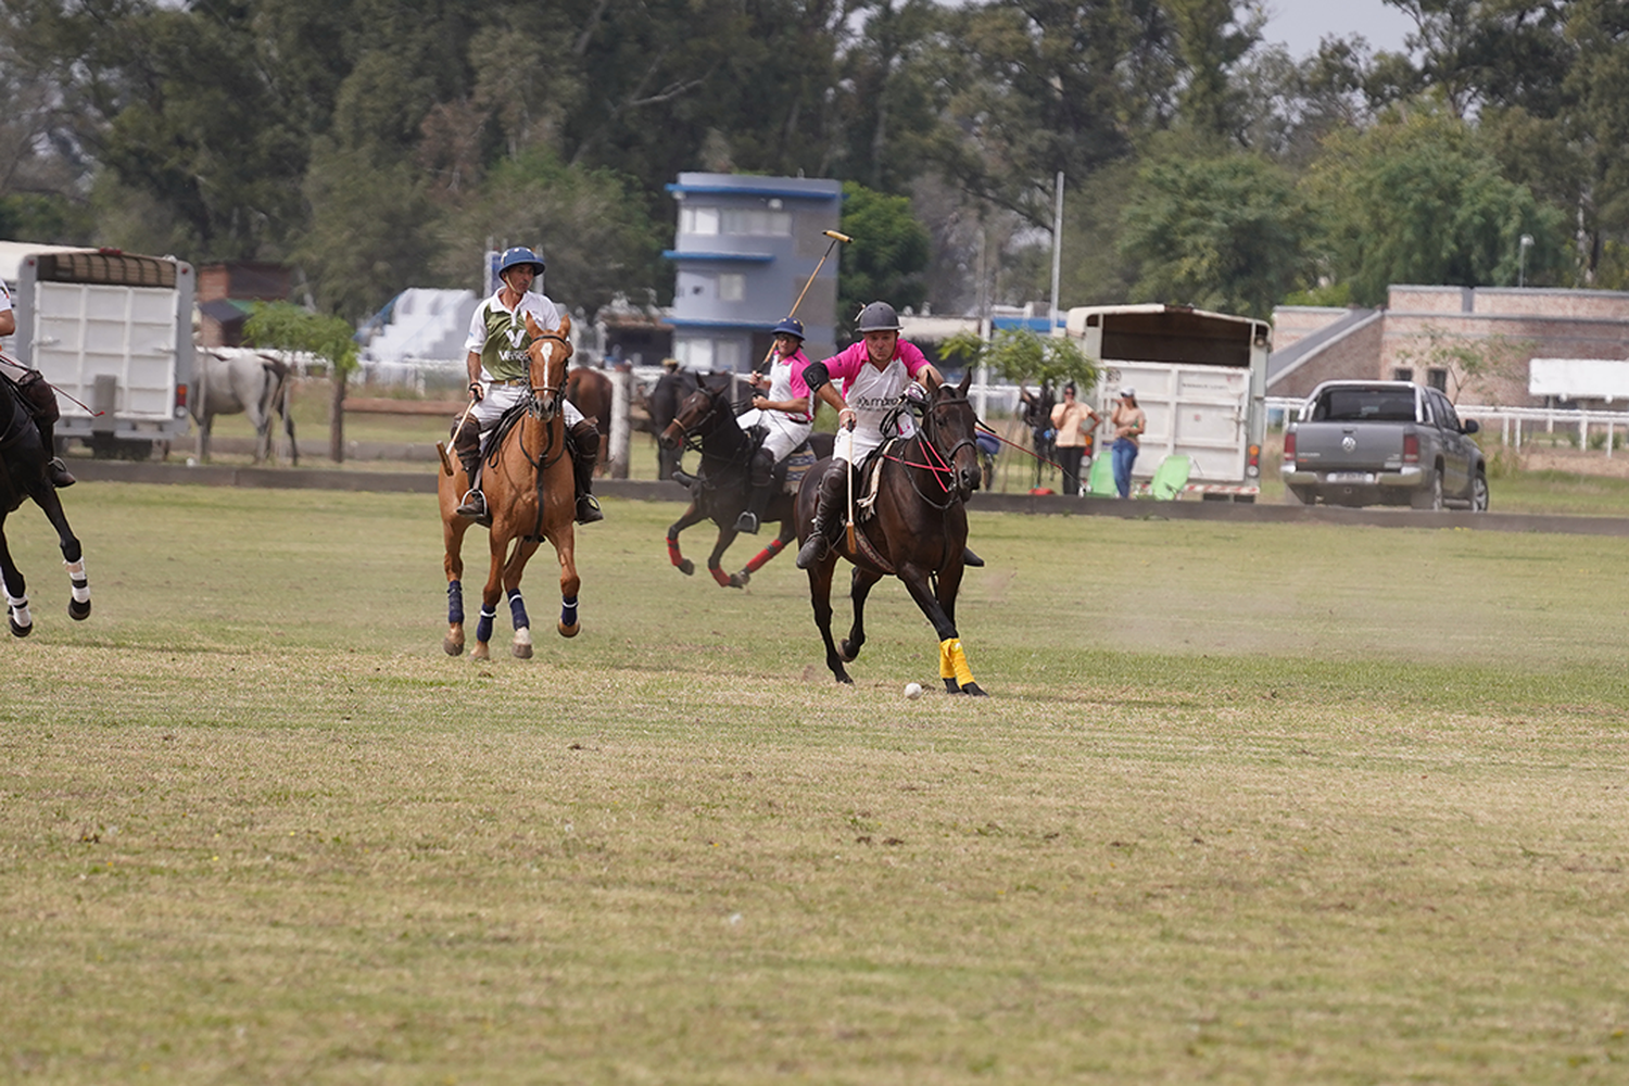
[[(531, 249), (525, 246), (505, 249), (498, 259), (502, 287), (476, 306), (476, 314), (469, 321), (469, 337), (464, 340), (469, 357), (464, 365), (469, 370), (472, 402), (466, 415), (476, 425), (453, 423), (453, 449), (469, 477), (469, 493), (458, 506), (459, 516), (479, 519), (487, 515), (487, 498), (476, 485), (476, 472), (481, 469), (481, 435), (495, 427), (510, 407), (531, 397), (526, 353), (531, 334), (526, 331), (523, 314), (531, 313), (544, 332), (560, 327), (560, 311), (554, 301), (541, 290), (536, 293), (531, 290), (534, 285), (542, 285), (542, 257)], [(595, 459), (599, 456), (599, 430), (564, 396), (560, 410), (575, 446), (577, 523), (593, 524), (604, 519), (591, 493)]]

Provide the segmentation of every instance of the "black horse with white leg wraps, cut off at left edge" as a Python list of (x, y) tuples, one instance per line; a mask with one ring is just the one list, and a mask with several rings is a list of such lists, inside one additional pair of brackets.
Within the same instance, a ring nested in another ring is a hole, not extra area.
[(0, 378), (0, 576), (5, 580), (7, 622), (15, 637), (28, 637), (34, 630), (34, 619), (28, 609), (28, 583), (23, 571), (11, 560), (11, 549), (5, 541), (5, 518), (23, 505), (24, 498), (33, 498), (46, 513), (46, 519), (57, 529), (62, 542), (62, 560), (68, 567), (68, 580), (73, 585), (73, 596), (68, 599), (68, 615), (86, 619), (91, 614), (91, 589), (85, 580), (85, 557), (80, 541), (68, 528), (68, 518), (62, 511), (62, 500), (57, 488), (46, 475), (46, 462), (52, 453), (39, 440), (39, 428), (34, 417), (23, 404), (16, 386)]

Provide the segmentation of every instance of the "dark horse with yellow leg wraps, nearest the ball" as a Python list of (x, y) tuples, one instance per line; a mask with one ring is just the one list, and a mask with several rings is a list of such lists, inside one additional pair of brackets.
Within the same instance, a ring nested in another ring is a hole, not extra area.
[[(971, 371), (961, 384), (935, 384), (912, 438), (883, 446), (872, 515), (850, 524), (826, 557), (808, 568), (814, 625), (826, 642), (826, 666), (837, 682), (854, 682), (844, 669), (865, 645), (865, 598), (893, 573), (906, 583), (938, 635), (938, 676), (950, 694), (982, 695), (956, 633), (956, 591), (968, 547), (968, 497), (979, 488), (977, 415), (968, 402)], [(798, 492), (798, 539), (808, 539), (826, 462), (803, 477)], [(841, 469), (839, 469), (841, 471)], [(858, 487), (858, 484), (855, 484)], [(831, 581), (837, 558), (854, 563), (849, 591), (854, 627), (842, 651), (831, 640)]]

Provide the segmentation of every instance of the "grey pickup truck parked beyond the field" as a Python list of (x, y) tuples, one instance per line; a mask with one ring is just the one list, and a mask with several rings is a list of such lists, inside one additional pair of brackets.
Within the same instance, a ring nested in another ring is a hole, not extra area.
[(1448, 397), (1409, 381), (1324, 381), (1284, 433), (1284, 484), (1302, 505), (1487, 510), (1487, 462)]

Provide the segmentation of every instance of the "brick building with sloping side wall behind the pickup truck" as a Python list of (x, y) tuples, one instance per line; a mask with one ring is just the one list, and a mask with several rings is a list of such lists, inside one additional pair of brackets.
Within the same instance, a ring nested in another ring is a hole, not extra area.
[[(1279, 306), (1267, 396), (1336, 378), (1430, 384), (1471, 404), (1539, 407), (1533, 358), (1629, 360), (1629, 293), (1513, 287), (1391, 287), (1385, 309)], [(1455, 352), (1487, 360), (1466, 378)]]

